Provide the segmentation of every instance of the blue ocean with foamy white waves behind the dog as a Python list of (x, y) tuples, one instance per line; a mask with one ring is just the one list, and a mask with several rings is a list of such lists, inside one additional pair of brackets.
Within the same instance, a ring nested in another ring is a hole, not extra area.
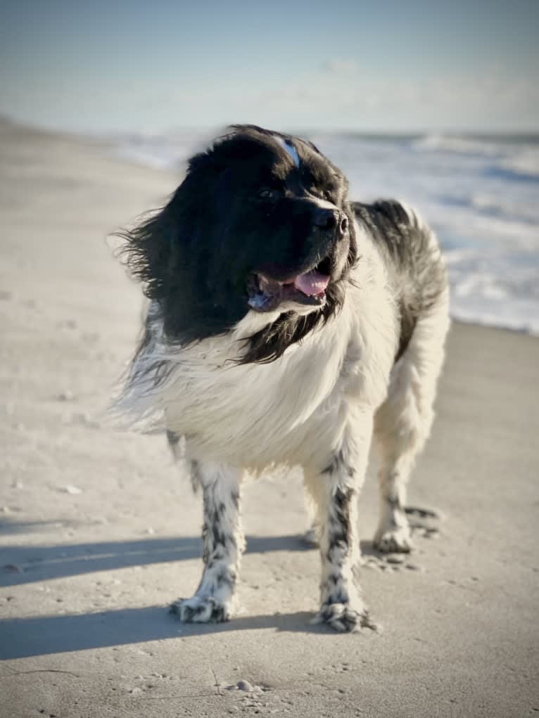
[[(211, 136), (115, 140), (126, 159), (179, 169)], [(351, 199), (404, 200), (436, 230), (453, 317), (539, 335), (539, 134), (302, 136), (347, 175)]]

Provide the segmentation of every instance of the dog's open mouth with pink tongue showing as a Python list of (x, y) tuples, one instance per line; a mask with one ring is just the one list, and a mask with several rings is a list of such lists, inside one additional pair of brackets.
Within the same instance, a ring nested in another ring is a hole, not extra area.
[(326, 302), (330, 274), (331, 261), (328, 257), (314, 269), (285, 281), (270, 279), (265, 274), (253, 272), (247, 283), (249, 307), (256, 312), (271, 312), (282, 302), (322, 307)]

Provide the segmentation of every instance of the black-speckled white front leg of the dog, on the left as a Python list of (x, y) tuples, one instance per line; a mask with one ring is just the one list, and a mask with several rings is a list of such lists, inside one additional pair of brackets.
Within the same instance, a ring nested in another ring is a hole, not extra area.
[(241, 472), (235, 468), (193, 462), (194, 482), (202, 486), (204, 572), (191, 598), (175, 601), (170, 610), (185, 623), (229, 620), (244, 536), (239, 516)]

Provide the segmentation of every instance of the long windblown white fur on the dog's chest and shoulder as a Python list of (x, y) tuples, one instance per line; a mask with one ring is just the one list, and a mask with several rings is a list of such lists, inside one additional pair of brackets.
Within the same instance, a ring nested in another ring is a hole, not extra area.
[[(269, 364), (232, 361), (257, 321), (252, 312), (228, 335), (180, 350), (167, 348), (154, 327), (138, 360), (142, 379), (128, 384), (124, 406), (139, 415), (159, 414), (167, 428), (188, 437), (193, 458), (252, 470), (323, 460), (317, 452), (338, 444), (351, 409), (374, 411), (387, 392), (395, 307), (374, 259), (367, 251), (337, 317)], [(142, 365), (159, 359), (169, 370), (152, 388)]]

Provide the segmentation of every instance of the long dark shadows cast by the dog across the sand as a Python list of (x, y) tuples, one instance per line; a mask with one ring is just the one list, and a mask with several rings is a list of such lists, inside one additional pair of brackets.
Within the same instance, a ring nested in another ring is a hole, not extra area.
[[(17, 526), (0, 531), (17, 533)], [(96, 544), (10, 546), (0, 559), (0, 585), (28, 584), (126, 567), (200, 559), (198, 537), (146, 538)], [(302, 536), (247, 536), (247, 553), (313, 551)], [(166, 606), (130, 607), (84, 614), (0, 620), (0, 659), (190, 638), (225, 631), (270, 629), (328, 633), (308, 612), (236, 617), (229, 623), (183, 624)]]

